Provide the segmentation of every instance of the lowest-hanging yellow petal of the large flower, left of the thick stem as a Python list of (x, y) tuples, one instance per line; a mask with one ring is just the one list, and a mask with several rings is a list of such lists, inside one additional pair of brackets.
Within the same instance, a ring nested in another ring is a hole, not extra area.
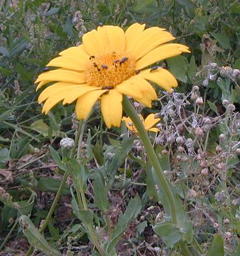
[(108, 128), (119, 127), (122, 120), (122, 93), (117, 90), (110, 90), (102, 96), (101, 111)]

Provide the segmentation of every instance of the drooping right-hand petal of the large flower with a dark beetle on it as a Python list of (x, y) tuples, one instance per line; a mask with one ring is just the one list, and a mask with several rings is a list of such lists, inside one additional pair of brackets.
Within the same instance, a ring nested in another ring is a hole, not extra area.
[(153, 81), (161, 86), (164, 90), (171, 93), (171, 88), (178, 86), (176, 78), (164, 68), (158, 68), (152, 72), (151, 69), (141, 71), (137, 76)]

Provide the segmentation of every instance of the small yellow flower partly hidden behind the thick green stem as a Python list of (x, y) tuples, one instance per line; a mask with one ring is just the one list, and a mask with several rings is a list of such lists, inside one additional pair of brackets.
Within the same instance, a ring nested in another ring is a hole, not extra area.
[[(154, 131), (155, 133), (158, 132), (158, 128), (153, 128), (153, 126), (160, 121), (160, 118), (154, 118), (154, 114), (146, 116), (145, 120), (143, 119), (142, 115), (140, 115), (139, 117), (142, 120), (143, 126), (146, 131)], [(137, 128), (133, 125), (133, 122), (129, 117), (123, 116), (122, 120), (125, 121), (126, 126), (130, 131), (137, 133)]]

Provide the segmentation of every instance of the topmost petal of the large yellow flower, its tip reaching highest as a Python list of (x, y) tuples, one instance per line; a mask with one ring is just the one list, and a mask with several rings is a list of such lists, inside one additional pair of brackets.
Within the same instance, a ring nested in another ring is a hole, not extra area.
[(138, 38), (140, 38), (145, 24), (134, 23), (125, 32), (126, 48), (125, 51), (130, 52), (136, 46)]

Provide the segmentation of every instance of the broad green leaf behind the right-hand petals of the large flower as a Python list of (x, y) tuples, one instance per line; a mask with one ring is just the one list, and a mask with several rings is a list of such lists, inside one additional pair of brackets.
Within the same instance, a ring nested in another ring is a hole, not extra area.
[(186, 75), (186, 58), (180, 55), (170, 58), (167, 61), (170, 71), (176, 76), (176, 78), (186, 83), (186, 81), (188, 81), (188, 76)]

